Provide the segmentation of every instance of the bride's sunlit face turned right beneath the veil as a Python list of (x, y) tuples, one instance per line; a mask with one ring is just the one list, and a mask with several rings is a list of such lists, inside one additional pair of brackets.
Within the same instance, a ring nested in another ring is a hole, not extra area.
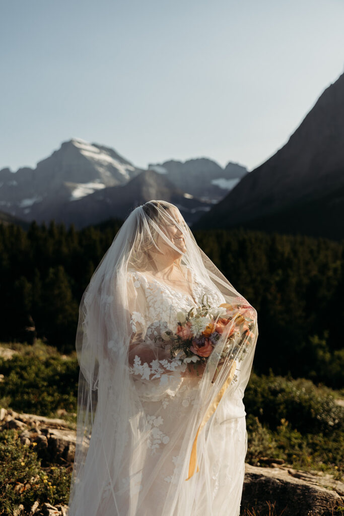
[(164, 220), (160, 225), (160, 229), (180, 252), (173, 249), (161, 235), (158, 236), (157, 246), (161, 252), (177, 260), (181, 257), (181, 254), (186, 251), (184, 233), (179, 229), (185, 226), (185, 222), (175, 208), (169, 210), (169, 215), (171, 215), (172, 218)]

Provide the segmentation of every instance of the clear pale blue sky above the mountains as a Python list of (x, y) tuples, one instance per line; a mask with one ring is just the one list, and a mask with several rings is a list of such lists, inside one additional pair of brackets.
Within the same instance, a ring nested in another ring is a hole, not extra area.
[(342, 0), (0, 0), (0, 169), (72, 137), (253, 169), (344, 71)]

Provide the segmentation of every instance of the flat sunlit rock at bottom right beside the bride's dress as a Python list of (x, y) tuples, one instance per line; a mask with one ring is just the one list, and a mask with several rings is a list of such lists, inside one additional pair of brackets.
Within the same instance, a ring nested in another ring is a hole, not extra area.
[[(283, 516), (334, 516), (344, 500), (333, 485), (318, 475), (297, 472), (285, 466), (257, 467), (245, 464), (241, 508), (265, 513), (267, 502)], [(340, 490), (341, 482), (337, 488)], [(339, 512), (338, 512), (339, 514)]]

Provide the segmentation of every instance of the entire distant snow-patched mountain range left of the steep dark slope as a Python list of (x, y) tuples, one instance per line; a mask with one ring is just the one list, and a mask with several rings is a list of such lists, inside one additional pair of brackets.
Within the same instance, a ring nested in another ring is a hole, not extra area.
[(73, 138), (35, 169), (0, 170), (0, 209), (27, 222), (54, 218), (82, 227), (103, 217), (124, 217), (131, 207), (150, 199), (175, 199), (191, 223), (247, 170), (233, 163), (222, 169), (200, 158), (156, 165), (154, 172), (134, 166), (111, 148)]

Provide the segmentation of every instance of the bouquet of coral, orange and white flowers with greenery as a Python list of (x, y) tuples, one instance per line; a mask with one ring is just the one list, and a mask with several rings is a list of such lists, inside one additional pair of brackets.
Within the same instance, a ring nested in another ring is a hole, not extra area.
[(204, 295), (199, 307), (178, 312), (177, 327), (162, 332), (161, 338), (172, 341), (172, 359), (194, 364), (206, 362), (230, 325), (220, 360), (228, 357), (240, 361), (254, 339), (251, 332), (254, 313), (254, 309), (241, 298), (236, 298), (233, 304), (222, 303), (219, 307), (211, 307)]

